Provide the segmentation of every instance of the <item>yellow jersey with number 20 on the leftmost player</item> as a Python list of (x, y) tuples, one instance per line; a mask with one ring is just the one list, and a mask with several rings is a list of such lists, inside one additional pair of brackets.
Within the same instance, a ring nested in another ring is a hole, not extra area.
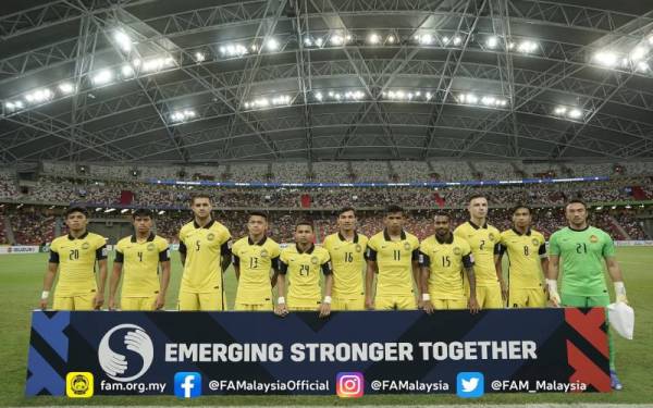
[(79, 296), (96, 293), (96, 260), (107, 259), (107, 240), (85, 232), (78, 238), (64, 235), (52, 240), (50, 262), (59, 263), (57, 296)]

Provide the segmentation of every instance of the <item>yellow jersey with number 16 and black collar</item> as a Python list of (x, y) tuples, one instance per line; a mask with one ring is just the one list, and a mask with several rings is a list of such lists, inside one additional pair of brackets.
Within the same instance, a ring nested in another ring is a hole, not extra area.
[(329, 251), (333, 267), (333, 297), (347, 299), (365, 294), (362, 274), (367, 243), (368, 237), (358, 233), (354, 233), (353, 240), (347, 240), (341, 233), (324, 238), (322, 247)]

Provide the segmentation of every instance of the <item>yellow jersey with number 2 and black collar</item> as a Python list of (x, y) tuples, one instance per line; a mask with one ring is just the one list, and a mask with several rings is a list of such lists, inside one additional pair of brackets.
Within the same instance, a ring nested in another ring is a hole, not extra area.
[(454, 230), (454, 235), (467, 240), (471, 247), (477, 286), (496, 284), (498, 279), (494, 265), (494, 255), (498, 255), (500, 250), (501, 233), (498, 230), (488, 223), (479, 226), (467, 221)]

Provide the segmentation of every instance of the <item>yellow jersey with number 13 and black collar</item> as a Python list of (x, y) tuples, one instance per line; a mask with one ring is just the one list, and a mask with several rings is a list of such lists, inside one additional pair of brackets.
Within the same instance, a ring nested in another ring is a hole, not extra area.
[(270, 270), (279, 270), (281, 248), (272, 238), (255, 243), (249, 236), (241, 238), (232, 246), (232, 263), (238, 267), (241, 277), (236, 292), (236, 302), (259, 302), (272, 299)]

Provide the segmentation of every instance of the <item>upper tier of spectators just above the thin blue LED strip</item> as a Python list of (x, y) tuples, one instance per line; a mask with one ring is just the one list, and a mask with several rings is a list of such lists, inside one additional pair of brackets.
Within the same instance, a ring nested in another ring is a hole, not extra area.
[(44, 175), (101, 180), (213, 180), (231, 182), (461, 182), (515, 177), (653, 176), (653, 162), (352, 161), (238, 162), (213, 165), (121, 165), (44, 162)]

